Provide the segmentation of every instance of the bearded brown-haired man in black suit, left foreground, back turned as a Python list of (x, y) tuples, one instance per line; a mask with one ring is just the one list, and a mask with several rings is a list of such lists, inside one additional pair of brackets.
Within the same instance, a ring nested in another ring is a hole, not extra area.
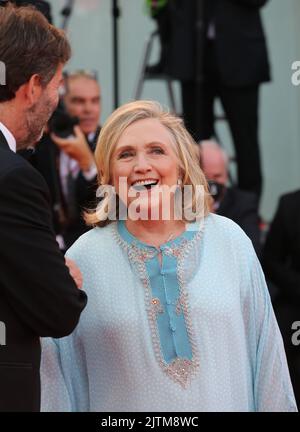
[(76, 327), (86, 295), (51, 226), (48, 188), (17, 149), (35, 145), (58, 102), (70, 57), (63, 32), (33, 8), (0, 7), (0, 411), (39, 411), (40, 337)]

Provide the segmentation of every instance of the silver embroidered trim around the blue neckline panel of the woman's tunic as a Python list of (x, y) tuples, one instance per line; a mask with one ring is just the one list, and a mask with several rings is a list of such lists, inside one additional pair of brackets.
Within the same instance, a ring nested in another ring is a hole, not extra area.
[[(163, 313), (163, 306), (161, 305), (159, 299), (153, 299), (152, 297), (152, 289), (151, 283), (148, 276), (148, 272), (146, 269), (146, 261), (156, 256), (159, 251), (156, 248), (144, 248), (140, 247), (136, 244), (135, 241), (132, 243), (127, 243), (119, 234), (117, 223), (113, 225), (113, 236), (118, 245), (120, 245), (128, 254), (128, 258), (130, 262), (136, 268), (136, 271), (141, 279), (142, 285), (145, 289), (145, 304), (146, 310), (148, 314), (148, 320), (152, 335), (152, 342), (154, 347), (155, 357), (160, 364), (161, 368), (164, 372), (175, 382), (180, 384), (183, 388), (186, 388), (193, 375), (197, 373), (199, 368), (199, 354), (198, 348), (195, 341), (193, 323), (191, 320), (190, 307), (188, 302), (188, 294), (186, 290), (186, 286), (188, 281), (193, 277), (192, 273), (195, 273), (197, 264), (197, 259), (195, 260), (194, 265), (189, 267), (189, 274), (186, 274), (187, 271), (184, 268), (184, 261), (189, 255), (189, 253), (194, 252), (193, 249), (198, 247), (198, 242), (202, 237), (204, 231), (204, 220), (201, 222), (201, 226), (198, 232), (194, 235), (191, 240), (183, 239), (177, 245), (165, 246), (163, 252), (167, 255), (173, 255), (177, 258), (177, 278), (179, 284), (179, 297), (176, 302), (176, 314), (180, 313), (184, 314), (184, 319), (186, 323), (186, 329), (188, 338), (190, 341), (191, 349), (192, 349), (192, 360), (186, 358), (176, 358), (171, 363), (167, 363), (163, 359), (163, 355), (161, 352), (159, 331), (157, 326), (157, 314)], [(197, 255), (197, 253), (195, 253)], [(158, 300), (153, 304), (153, 300)]]

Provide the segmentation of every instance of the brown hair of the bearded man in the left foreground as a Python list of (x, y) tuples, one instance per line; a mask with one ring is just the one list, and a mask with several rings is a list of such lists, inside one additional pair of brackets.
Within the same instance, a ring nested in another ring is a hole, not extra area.
[(0, 61), (6, 72), (6, 83), (0, 85), (0, 102), (13, 99), (34, 74), (46, 87), (58, 65), (70, 56), (65, 33), (49, 24), (34, 7), (0, 7)]

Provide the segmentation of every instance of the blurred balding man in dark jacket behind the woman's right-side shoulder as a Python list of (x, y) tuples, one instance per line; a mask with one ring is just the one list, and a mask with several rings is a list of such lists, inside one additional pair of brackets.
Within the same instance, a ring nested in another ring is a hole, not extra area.
[(257, 196), (228, 186), (228, 157), (216, 142), (200, 143), (200, 163), (210, 184), (214, 199), (213, 211), (236, 222), (252, 240), (259, 256), (261, 244)]

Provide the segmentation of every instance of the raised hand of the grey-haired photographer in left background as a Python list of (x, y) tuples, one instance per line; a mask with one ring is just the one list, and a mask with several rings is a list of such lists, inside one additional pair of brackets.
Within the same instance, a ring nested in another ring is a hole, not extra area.
[(51, 134), (51, 139), (54, 143), (72, 159), (77, 160), (82, 171), (88, 171), (94, 163), (94, 155), (90, 149), (86, 138), (77, 125), (74, 127), (75, 137), (60, 138), (55, 134)]

